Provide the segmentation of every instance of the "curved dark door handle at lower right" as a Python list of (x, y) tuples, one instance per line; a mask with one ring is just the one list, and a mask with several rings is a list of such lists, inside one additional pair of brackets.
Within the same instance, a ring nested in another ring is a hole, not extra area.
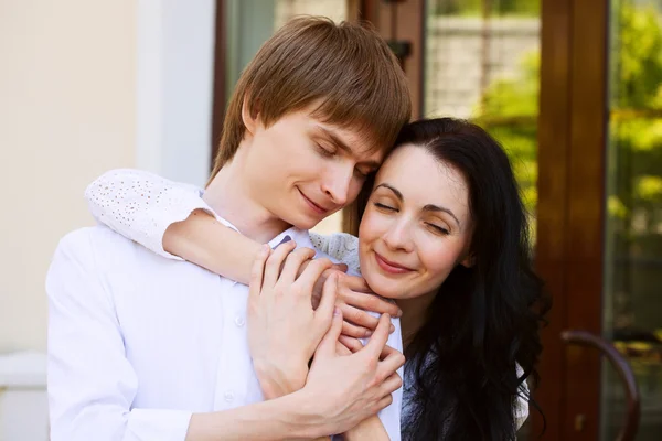
[(626, 388), (627, 412), (626, 420), (617, 441), (633, 441), (639, 430), (639, 418), (641, 413), (641, 400), (637, 379), (630, 363), (623, 357), (613, 345), (605, 338), (599, 337), (586, 331), (564, 331), (560, 338), (572, 345), (594, 347), (602, 353), (616, 369), (619, 378)]

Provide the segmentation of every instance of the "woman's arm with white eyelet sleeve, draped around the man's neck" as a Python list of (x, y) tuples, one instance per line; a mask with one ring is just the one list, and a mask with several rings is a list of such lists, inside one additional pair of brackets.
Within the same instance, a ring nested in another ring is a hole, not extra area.
[(98, 223), (150, 251), (248, 283), (260, 245), (218, 222), (201, 189), (120, 169), (97, 178), (85, 197)]

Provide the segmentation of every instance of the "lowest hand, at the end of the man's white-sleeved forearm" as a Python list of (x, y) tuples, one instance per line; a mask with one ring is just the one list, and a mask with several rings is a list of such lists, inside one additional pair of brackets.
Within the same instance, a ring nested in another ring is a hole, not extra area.
[(320, 434), (344, 432), (393, 401), (391, 394), (402, 386), (396, 370), (405, 357), (386, 346), (389, 321), (388, 314), (382, 315), (365, 347), (346, 355), (337, 346), (342, 313), (335, 309), (331, 329), (314, 353), (306, 387), (297, 392), (310, 404), (307, 420), (322, 426)]

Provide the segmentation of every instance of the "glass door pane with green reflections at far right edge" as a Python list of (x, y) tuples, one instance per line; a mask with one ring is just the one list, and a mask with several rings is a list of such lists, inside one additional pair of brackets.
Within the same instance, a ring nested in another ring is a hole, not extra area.
[[(630, 362), (641, 397), (637, 440), (662, 437), (662, 1), (610, 11), (604, 336)], [(601, 440), (624, 397), (602, 367)]]

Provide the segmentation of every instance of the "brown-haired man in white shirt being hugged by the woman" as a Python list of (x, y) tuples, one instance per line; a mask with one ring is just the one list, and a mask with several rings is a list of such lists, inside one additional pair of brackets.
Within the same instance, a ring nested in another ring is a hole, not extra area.
[[(404, 75), (374, 32), (295, 20), (239, 79), (204, 201), (248, 237), (311, 247), (307, 228), (356, 197), (409, 112)], [(146, 203), (160, 197), (143, 190)], [(182, 218), (195, 208), (181, 207)], [(280, 277), (311, 257), (293, 256)], [(310, 263), (301, 292), (329, 266)], [(247, 287), (104, 227), (67, 235), (46, 282), (51, 439), (306, 439), (350, 429), (388, 404), (397, 386), (385, 379), (403, 359), (380, 361), (387, 316), (364, 349), (335, 356), (333, 283), (317, 311), (310, 297), (258, 293), (271, 301), (253, 313), (273, 325), (247, 335), (256, 295)], [(381, 417), (399, 438), (399, 408)]]

